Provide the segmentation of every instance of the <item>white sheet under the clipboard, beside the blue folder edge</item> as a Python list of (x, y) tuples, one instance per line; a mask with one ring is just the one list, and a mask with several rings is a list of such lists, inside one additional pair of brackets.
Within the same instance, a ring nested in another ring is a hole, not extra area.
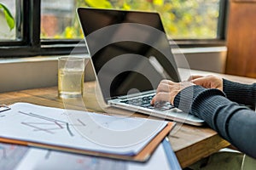
[[(18, 149), (16, 150), (16, 152)], [(9, 157), (9, 162), (13, 157)], [(9, 164), (10, 164), (9, 163)], [(1, 167), (1, 161), (0, 161)], [(14, 166), (12, 166), (14, 167)], [(6, 167), (5, 169), (9, 169)], [(147, 162), (119, 161), (102, 157), (82, 156), (53, 150), (30, 149), (26, 156), (20, 157), (15, 170), (155, 170), (171, 169), (163, 144), (154, 151)], [(173, 169), (174, 170), (174, 169)], [(177, 169), (175, 169), (177, 170)]]

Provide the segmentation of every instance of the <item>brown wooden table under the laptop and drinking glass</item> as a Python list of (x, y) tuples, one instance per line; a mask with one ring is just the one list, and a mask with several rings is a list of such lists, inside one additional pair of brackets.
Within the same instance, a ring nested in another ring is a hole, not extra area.
[[(192, 74), (210, 74), (204, 71), (192, 71)], [(212, 73), (211, 73), (212, 74)], [(227, 77), (230, 80), (239, 82), (255, 82), (255, 79), (244, 77)], [(46, 105), (58, 108), (102, 112), (100, 105), (96, 102), (95, 82), (84, 83), (84, 99), (82, 102), (76, 99), (63, 101), (57, 97), (57, 87), (27, 89), (18, 92), (0, 94), (0, 104), (11, 105), (15, 102), (28, 102), (36, 105)], [(125, 111), (118, 111), (125, 114)], [(143, 116), (136, 114), (134, 116)], [(145, 116), (143, 116), (145, 117)], [(182, 167), (187, 167), (203, 157), (210, 156), (212, 153), (229, 146), (230, 144), (221, 139), (216, 132), (209, 127), (194, 127), (186, 124), (177, 124), (174, 131), (169, 135), (172, 149), (177, 155), (177, 159)]]

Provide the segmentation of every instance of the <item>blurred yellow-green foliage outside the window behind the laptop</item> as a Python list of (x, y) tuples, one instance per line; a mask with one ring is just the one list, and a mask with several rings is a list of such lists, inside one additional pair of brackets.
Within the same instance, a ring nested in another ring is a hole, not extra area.
[[(216, 38), (219, 0), (76, 0), (76, 7), (154, 11), (172, 38)], [(83, 37), (77, 16), (57, 37)]]

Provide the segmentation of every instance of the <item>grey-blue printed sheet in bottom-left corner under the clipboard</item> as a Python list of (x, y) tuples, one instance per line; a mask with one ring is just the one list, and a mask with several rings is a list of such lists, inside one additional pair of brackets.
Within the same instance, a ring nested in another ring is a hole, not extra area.
[(26, 146), (0, 143), (0, 169), (15, 169), (28, 150)]

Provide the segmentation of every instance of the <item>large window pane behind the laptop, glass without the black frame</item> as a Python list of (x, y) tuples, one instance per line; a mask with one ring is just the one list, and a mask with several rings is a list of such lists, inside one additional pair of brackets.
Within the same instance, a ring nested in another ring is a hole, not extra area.
[[(44, 38), (81, 37), (77, 7), (119, 8), (157, 11), (166, 32), (174, 39), (218, 37), (219, 0), (42, 0), (41, 36)], [(57, 7), (57, 8), (56, 8)]]

